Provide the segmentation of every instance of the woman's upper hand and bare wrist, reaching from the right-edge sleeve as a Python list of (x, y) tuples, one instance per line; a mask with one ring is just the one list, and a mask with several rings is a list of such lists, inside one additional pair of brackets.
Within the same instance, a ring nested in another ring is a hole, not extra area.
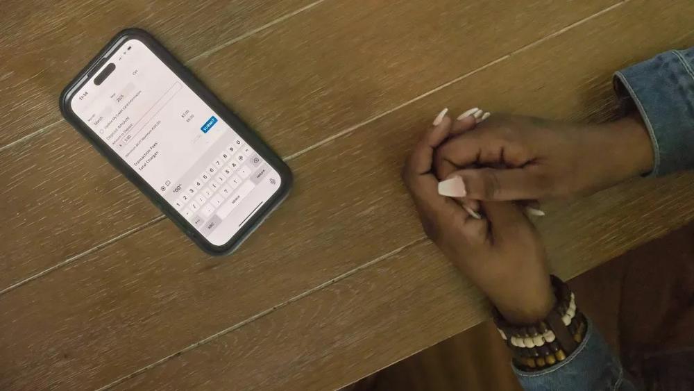
[(598, 125), (491, 115), (437, 149), (440, 180), (460, 176), (467, 199), (549, 199), (608, 188), (653, 166), (638, 115)]

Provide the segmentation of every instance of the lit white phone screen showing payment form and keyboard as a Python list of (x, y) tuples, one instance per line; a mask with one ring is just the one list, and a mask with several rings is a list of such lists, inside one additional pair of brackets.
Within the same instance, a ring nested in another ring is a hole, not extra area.
[(69, 104), (214, 245), (280, 189), (280, 174), (141, 40), (124, 42)]

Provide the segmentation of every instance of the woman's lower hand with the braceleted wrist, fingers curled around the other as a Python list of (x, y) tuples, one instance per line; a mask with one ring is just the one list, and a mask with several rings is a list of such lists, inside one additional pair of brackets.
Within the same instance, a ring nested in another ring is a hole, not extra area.
[[(455, 124), (457, 130), (474, 126), (473, 117)], [(434, 150), (453, 127), (448, 117), (437, 121), (418, 142), (403, 169), (403, 181), (424, 231), (507, 321), (537, 322), (550, 312), (555, 296), (543, 244), (523, 209), (513, 202), (483, 201), (484, 218), (474, 219), (459, 201), (438, 192), (439, 181), (432, 168)]]

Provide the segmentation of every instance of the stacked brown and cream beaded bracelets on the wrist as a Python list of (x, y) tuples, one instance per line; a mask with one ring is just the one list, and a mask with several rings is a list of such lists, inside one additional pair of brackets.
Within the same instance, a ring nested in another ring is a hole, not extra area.
[(576, 307), (568, 285), (551, 276), (557, 303), (541, 322), (530, 326), (509, 324), (494, 308), (494, 322), (514, 353), (514, 365), (526, 370), (544, 369), (566, 360), (583, 341), (588, 328), (586, 317)]

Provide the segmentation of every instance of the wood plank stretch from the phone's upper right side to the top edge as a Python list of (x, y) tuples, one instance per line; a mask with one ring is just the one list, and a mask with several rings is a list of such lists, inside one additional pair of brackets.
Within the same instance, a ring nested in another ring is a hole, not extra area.
[[(615, 3), (333, 1), (215, 53), (200, 73), (289, 156)], [(230, 64), (245, 76), (220, 81)]]

